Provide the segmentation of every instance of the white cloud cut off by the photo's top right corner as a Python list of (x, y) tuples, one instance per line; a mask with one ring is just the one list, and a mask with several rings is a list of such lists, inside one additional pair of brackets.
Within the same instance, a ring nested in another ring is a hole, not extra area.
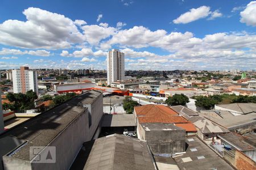
[(256, 1), (251, 1), (247, 4), (245, 10), (240, 12), (241, 23), (246, 23), (246, 25), (256, 26)]

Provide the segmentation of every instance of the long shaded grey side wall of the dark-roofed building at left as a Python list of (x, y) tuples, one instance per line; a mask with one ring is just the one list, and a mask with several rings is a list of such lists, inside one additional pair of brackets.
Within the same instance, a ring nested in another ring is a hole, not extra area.
[(49, 146), (56, 147), (56, 163), (32, 162), (32, 169), (69, 169), (82, 143), (88, 140), (88, 109), (77, 117), (62, 133), (60, 133)]

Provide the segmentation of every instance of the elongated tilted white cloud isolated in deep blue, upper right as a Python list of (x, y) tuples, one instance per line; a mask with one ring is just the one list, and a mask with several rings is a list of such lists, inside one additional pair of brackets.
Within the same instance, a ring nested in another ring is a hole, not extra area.
[(210, 7), (200, 6), (199, 8), (192, 8), (188, 12), (181, 14), (177, 19), (173, 20), (175, 24), (186, 24), (198, 20), (200, 18), (205, 18), (209, 15)]

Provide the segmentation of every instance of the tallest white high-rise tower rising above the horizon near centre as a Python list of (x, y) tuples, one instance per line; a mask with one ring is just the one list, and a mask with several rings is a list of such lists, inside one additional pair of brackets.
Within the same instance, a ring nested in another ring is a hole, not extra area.
[(108, 53), (108, 85), (125, 78), (125, 53), (112, 49)]

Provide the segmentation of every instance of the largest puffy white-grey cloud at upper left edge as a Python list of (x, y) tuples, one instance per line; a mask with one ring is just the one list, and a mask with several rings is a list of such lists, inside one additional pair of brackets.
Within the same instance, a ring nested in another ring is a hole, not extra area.
[(83, 41), (74, 22), (64, 15), (30, 7), (23, 11), (26, 22), (6, 20), (0, 24), (0, 43), (21, 48), (70, 48)]

